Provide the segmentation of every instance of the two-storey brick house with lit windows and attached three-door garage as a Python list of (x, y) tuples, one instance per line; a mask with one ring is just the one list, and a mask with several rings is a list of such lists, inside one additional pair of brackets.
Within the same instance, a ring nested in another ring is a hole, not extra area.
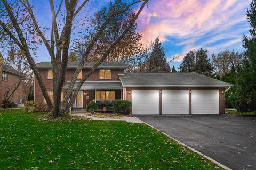
[[(78, 80), (95, 64), (86, 62)], [(69, 81), (77, 67), (69, 62), (65, 95)], [(38, 63), (37, 67), (53, 99), (51, 62)], [(115, 100), (132, 101), (132, 114), (223, 114), (225, 88), (232, 84), (197, 73), (125, 73), (123, 62), (105, 62), (96, 69), (81, 87), (73, 108), (86, 108), (89, 101), (97, 103)], [(35, 101), (45, 103), (42, 91), (35, 81)]]

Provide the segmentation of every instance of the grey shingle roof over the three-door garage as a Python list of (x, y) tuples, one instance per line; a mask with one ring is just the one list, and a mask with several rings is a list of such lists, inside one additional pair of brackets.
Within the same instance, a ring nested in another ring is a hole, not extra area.
[(229, 87), (232, 84), (198, 73), (125, 73), (124, 87)]

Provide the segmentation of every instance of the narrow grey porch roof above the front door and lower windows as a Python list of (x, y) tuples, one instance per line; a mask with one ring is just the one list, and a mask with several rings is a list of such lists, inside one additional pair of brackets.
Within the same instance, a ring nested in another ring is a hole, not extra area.
[[(78, 85), (78, 82), (74, 84), (73, 89)], [(69, 82), (65, 84), (63, 89), (68, 89)], [(83, 83), (81, 90), (94, 90), (94, 89), (123, 89), (121, 82), (85, 82)]]

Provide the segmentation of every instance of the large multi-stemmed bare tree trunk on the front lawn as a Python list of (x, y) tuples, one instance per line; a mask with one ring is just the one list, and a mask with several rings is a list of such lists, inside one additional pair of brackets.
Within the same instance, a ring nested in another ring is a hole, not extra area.
[[(96, 30), (95, 36), (89, 40), (89, 45), (87, 46), (87, 49), (84, 52), (84, 55), (82, 57), (82, 60), (79, 62), (78, 67), (71, 78), (71, 81), (69, 83), (69, 87), (67, 90), (67, 94), (64, 97), (63, 101), (61, 102), (61, 92), (63, 85), (65, 83), (65, 77), (66, 77), (66, 70), (67, 70), (67, 64), (68, 64), (68, 56), (69, 56), (69, 46), (70, 46), (70, 37), (71, 37), (71, 31), (72, 31), (72, 23), (74, 22), (74, 19), (79, 11), (85, 6), (85, 4), (88, 2), (88, 0), (84, 0), (80, 6), (77, 6), (78, 0), (70, 0), (70, 1), (61, 1), (60, 5), (58, 7), (57, 12), (55, 12), (54, 9), (54, 3), (53, 0), (50, 0), (50, 6), (51, 6), (51, 12), (52, 12), (52, 30), (51, 30), (51, 40), (47, 40), (44, 36), (43, 31), (41, 31), (41, 28), (38, 26), (38, 23), (36, 21), (36, 18), (33, 13), (33, 8), (30, 6), (29, 1), (19, 1), (21, 3), (21, 7), (26, 9), (27, 13), (29, 14), (31, 21), (35, 27), (36, 34), (41, 37), (43, 44), (45, 45), (50, 57), (51, 57), (51, 64), (52, 64), (52, 71), (53, 71), (53, 103), (47, 94), (47, 89), (45, 87), (44, 81), (41, 77), (41, 74), (38, 71), (38, 68), (35, 64), (35, 61), (30, 54), (30, 48), (27, 44), (27, 40), (25, 39), (26, 36), (23, 35), (23, 31), (21, 29), (21, 24), (19, 24), (17, 18), (15, 18), (14, 12), (12, 11), (12, 8), (9, 5), (9, 2), (7, 0), (2, 0), (5, 10), (7, 11), (8, 19), (10, 19), (10, 23), (4, 23), (2, 20), (0, 20), (0, 26), (4, 29), (6, 35), (9, 35), (10, 38), (14, 41), (15, 44), (17, 44), (25, 53), (26, 58), (30, 64), (31, 69), (33, 70), (35, 77), (38, 80), (39, 86), (41, 87), (41, 90), (43, 92), (43, 96), (46, 100), (47, 106), (50, 110), (49, 116), (52, 117), (59, 117), (59, 116), (66, 116), (69, 113), (69, 108), (73, 105), (74, 100), (78, 94), (79, 89), (81, 88), (82, 84), (85, 82), (85, 80), (89, 77), (89, 75), (107, 58), (107, 56), (110, 54), (110, 52), (116, 47), (116, 45), (124, 38), (126, 33), (131, 29), (132, 25), (135, 23), (135, 20), (138, 18), (139, 14), (145, 7), (149, 0), (138, 0), (138, 1), (132, 1), (131, 4), (127, 4), (123, 8), (119, 9), (118, 11), (114, 11), (113, 13), (109, 13), (108, 18), (102, 23), (102, 26), (99, 28), (99, 30)], [(66, 16), (65, 16), (65, 24), (63, 25), (62, 32), (59, 34), (59, 29), (57, 23), (57, 15), (61, 11), (61, 5), (62, 2), (65, 3), (66, 8)], [(95, 43), (99, 40), (100, 36), (102, 35), (102, 32), (105, 31), (105, 28), (109, 24), (111, 20), (113, 20), (116, 16), (118, 16), (121, 13), (126, 12), (127, 10), (131, 10), (131, 7), (134, 7), (135, 4), (142, 3), (140, 6), (137, 14), (134, 16), (131, 23), (128, 25), (128, 27), (123, 31), (122, 35), (117, 38), (117, 40), (114, 41), (114, 43), (106, 50), (105, 54), (100, 58), (99, 62), (93, 66), (93, 68), (86, 73), (85, 77), (78, 83), (78, 86), (75, 90), (73, 90), (74, 84), (77, 80), (77, 76), (79, 72), (81, 71), (86, 58), (90, 55), (92, 52)], [(0, 18), (1, 19), (1, 18)], [(10, 26), (6, 26), (12, 24), (13, 28), (15, 29), (14, 34), (9, 30)], [(36, 95), (36, 94), (34, 94)]]

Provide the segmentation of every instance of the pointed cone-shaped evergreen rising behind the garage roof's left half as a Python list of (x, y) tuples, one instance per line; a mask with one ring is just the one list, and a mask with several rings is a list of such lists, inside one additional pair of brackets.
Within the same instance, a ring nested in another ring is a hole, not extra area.
[(170, 72), (170, 65), (165, 57), (165, 50), (162, 46), (161, 41), (157, 37), (153, 43), (152, 52), (150, 53), (147, 61), (148, 69), (147, 72), (159, 73), (159, 72)]

